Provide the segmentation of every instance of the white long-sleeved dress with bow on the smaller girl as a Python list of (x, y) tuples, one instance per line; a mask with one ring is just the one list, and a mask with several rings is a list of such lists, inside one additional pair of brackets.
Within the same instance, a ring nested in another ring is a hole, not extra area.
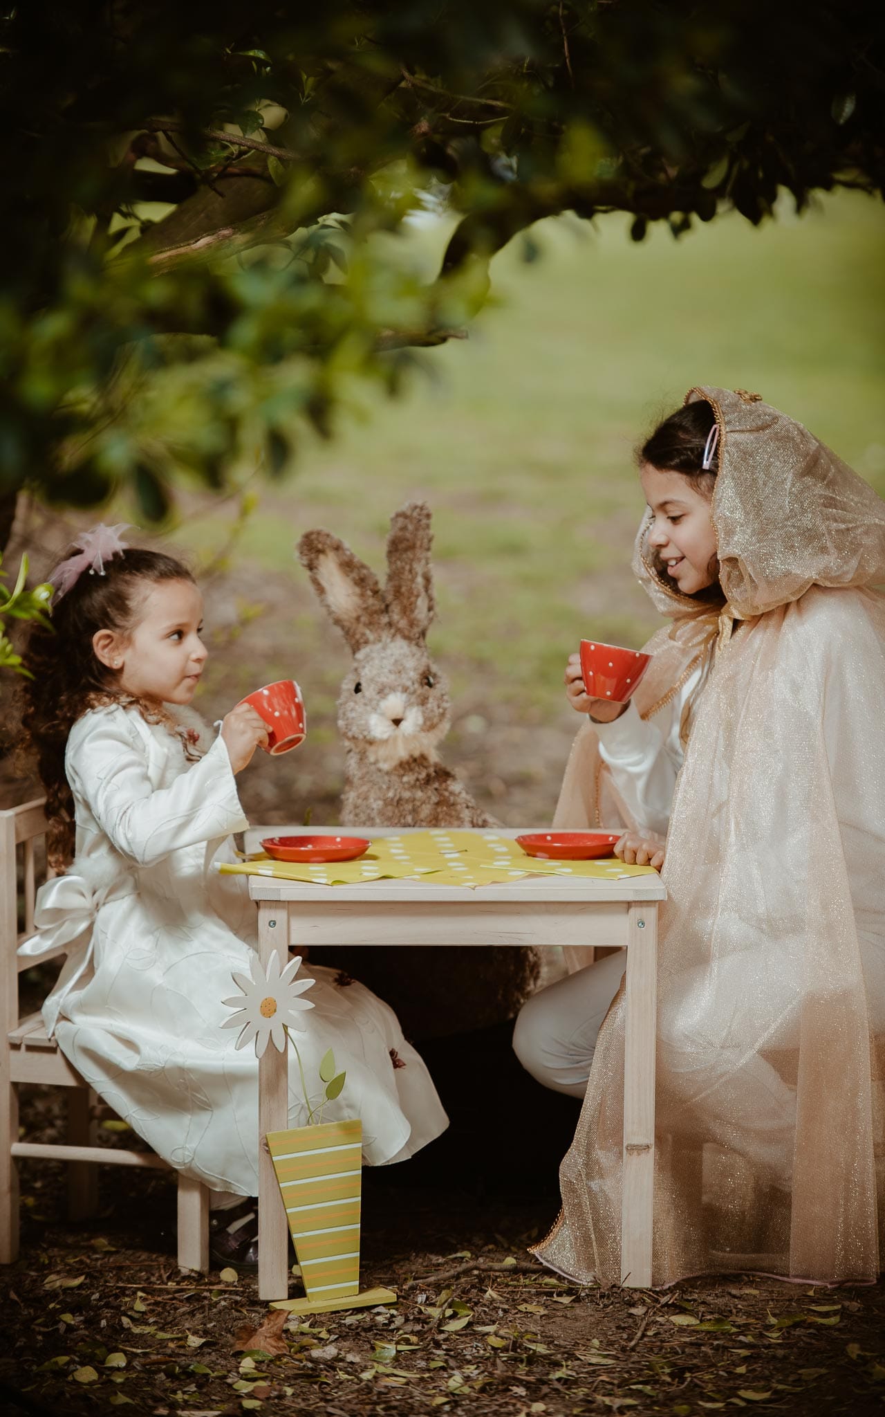
[[(212, 1190), (256, 1195), (258, 1060), (235, 1050), (221, 1002), (235, 995), (231, 975), (249, 972), (256, 911), (245, 877), (214, 870), (248, 820), (224, 740), (195, 728), (190, 710), (170, 711), (178, 733), (120, 706), (74, 724), (65, 772), (76, 857), (41, 888), (37, 934), (21, 952), (38, 961), (65, 945), (44, 1020), (103, 1101), (177, 1169)], [(423, 1061), (368, 989), (303, 968), (316, 979), (299, 1034), (307, 1077), (330, 1047), (347, 1070), (324, 1118), (360, 1117), (371, 1165), (411, 1156), (447, 1125)], [(307, 1121), (293, 1057), (289, 1119)]]

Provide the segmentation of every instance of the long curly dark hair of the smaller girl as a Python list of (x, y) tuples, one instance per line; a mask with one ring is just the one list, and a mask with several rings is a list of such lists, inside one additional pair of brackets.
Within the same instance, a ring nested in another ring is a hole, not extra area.
[(64, 867), (74, 856), (74, 798), (65, 777), (68, 734), (89, 708), (135, 704), (150, 723), (164, 721), (163, 710), (126, 694), (116, 674), (96, 657), (92, 636), (99, 629), (130, 633), (152, 584), (193, 581), (181, 561), (161, 551), (129, 547), (105, 563), (103, 575), (84, 572), (67, 595), (57, 597), (51, 629), (31, 628), (23, 655), (33, 674), (20, 690), (21, 731), (17, 747), (31, 750), (47, 794), (47, 852)]

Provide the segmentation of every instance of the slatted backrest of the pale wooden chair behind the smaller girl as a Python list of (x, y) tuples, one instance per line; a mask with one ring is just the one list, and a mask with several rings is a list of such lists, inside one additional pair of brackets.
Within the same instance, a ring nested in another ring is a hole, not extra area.
[(0, 812), (0, 993), (7, 1030), (18, 1024), (18, 975), (30, 966), (16, 951), (34, 931), (40, 879), (51, 874), (37, 850), (47, 830), (44, 805), (42, 798), (35, 798)]

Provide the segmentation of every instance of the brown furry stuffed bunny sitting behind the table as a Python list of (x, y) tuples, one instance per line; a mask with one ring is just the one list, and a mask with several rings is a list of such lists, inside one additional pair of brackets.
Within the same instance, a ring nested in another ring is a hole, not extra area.
[[(384, 589), (331, 533), (306, 531), (297, 546), (320, 602), (354, 655), (338, 697), (347, 826), (497, 825), (436, 754), (452, 706), (425, 645), (435, 612), (430, 541), (426, 503), (409, 502), (392, 516)], [(418, 948), (338, 949), (323, 952), (323, 959), (377, 989), (412, 1037), (513, 1017), (538, 973), (532, 949), (508, 947), (453, 947), (432, 959)]]

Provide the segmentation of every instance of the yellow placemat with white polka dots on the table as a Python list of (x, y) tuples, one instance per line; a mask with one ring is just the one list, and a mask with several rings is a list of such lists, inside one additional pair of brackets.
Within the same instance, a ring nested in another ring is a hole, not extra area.
[(357, 862), (309, 866), (303, 862), (258, 860), (219, 866), (241, 876), (272, 876), (276, 880), (314, 881), (317, 886), (360, 886), (371, 880), (406, 880), (432, 876), (435, 886), (493, 886), (521, 876), (578, 876), (623, 880), (627, 876), (656, 876), (651, 866), (626, 866), (616, 857), (596, 862), (541, 862), (527, 856), (508, 836), (496, 832), (409, 832), (379, 836)]

